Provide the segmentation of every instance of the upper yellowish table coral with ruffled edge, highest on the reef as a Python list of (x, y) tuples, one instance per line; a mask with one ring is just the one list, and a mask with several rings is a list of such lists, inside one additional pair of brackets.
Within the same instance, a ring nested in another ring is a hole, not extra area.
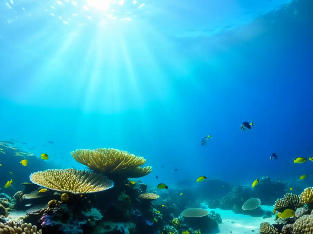
[(91, 170), (107, 176), (123, 175), (125, 178), (139, 178), (149, 174), (152, 167), (143, 167), (146, 159), (118, 149), (78, 149), (71, 152), (73, 158)]

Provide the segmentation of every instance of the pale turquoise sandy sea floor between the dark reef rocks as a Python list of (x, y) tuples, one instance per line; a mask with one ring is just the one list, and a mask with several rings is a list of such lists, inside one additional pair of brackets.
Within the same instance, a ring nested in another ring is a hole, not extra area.
[[(261, 206), (265, 211), (272, 211), (273, 206)], [(263, 217), (251, 217), (249, 215), (234, 214), (231, 210), (209, 209), (214, 210), (221, 215), (223, 223), (219, 224), (220, 234), (244, 234), (244, 233), (258, 233), (262, 222), (274, 222), (274, 216), (264, 219)], [(233, 222), (233, 223), (232, 223)], [(254, 230), (254, 232), (252, 231)]]

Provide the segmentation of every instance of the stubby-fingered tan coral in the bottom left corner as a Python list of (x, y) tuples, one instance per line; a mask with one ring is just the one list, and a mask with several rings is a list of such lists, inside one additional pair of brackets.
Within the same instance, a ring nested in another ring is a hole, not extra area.
[(8, 222), (8, 225), (0, 223), (0, 234), (42, 234), (42, 230), (38, 230), (37, 226), (31, 223), (22, 223), (19, 226), (15, 222)]

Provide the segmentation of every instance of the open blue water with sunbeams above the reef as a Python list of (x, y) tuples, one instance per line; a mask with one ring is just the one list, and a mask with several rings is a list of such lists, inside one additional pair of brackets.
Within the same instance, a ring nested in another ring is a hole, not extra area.
[(313, 156), (311, 0), (75, 3), (0, 2), (0, 140), (50, 157), (27, 170), (104, 147), (145, 157), (153, 186), (312, 183), (292, 160)]

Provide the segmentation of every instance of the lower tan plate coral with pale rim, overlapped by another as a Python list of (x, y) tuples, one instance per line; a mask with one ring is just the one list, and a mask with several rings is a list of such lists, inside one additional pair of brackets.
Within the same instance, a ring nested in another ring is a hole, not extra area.
[(106, 176), (76, 169), (49, 169), (30, 174), (30, 181), (44, 188), (74, 194), (95, 193), (113, 188)]

